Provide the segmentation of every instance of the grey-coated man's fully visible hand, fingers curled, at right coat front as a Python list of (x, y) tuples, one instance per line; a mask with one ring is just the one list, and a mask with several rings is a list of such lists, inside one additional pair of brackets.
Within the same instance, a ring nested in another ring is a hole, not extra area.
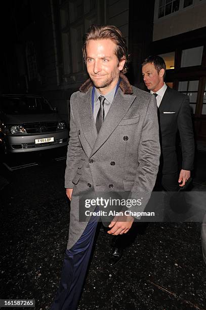
[(115, 216), (109, 224), (109, 227), (112, 227), (112, 229), (107, 232), (108, 234), (115, 236), (126, 234), (126, 232), (128, 232), (131, 228), (133, 221), (134, 217), (130, 215)]

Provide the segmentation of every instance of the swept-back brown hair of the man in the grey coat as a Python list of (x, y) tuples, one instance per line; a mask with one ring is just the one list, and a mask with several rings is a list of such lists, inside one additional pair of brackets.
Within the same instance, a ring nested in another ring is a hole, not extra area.
[(129, 62), (129, 56), (128, 56), (128, 48), (127, 48), (127, 42), (125, 38), (123, 37), (121, 31), (115, 27), (115, 26), (99, 26), (99, 25), (91, 25), (88, 29), (87, 33), (84, 36), (83, 39), (83, 57), (86, 61), (87, 59), (87, 43), (89, 40), (101, 40), (101, 39), (109, 39), (113, 41), (116, 44), (116, 51), (115, 54), (118, 58), (118, 60), (125, 58), (125, 65), (123, 66), (123, 69), (121, 70), (122, 73), (126, 73), (128, 70), (128, 62)]

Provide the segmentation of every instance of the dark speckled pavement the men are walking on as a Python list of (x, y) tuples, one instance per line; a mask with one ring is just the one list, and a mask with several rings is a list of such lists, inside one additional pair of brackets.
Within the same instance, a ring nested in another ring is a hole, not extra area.
[[(205, 154), (192, 190), (206, 190)], [(54, 298), (69, 225), (64, 157), (34, 152), (1, 165), (1, 299), (35, 299), (39, 310)], [(115, 268), (109, 237), (99, 233), (79, 310), (206, 309), (200, 223), (150, 223)]]

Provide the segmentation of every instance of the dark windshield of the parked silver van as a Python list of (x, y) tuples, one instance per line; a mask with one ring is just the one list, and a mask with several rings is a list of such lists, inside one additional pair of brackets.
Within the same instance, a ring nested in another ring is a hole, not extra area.
[(42, 97), (0, 97), (0, 109), (5, 114), (54, 113), (51, 104)]

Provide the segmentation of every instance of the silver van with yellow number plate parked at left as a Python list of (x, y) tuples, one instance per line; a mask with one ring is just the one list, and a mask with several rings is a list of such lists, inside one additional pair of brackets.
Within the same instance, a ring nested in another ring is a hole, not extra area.
[(68, 144), (68, 130), (49, 101), (36, 95), (0, 95), (0, 146), (29, 152)]

